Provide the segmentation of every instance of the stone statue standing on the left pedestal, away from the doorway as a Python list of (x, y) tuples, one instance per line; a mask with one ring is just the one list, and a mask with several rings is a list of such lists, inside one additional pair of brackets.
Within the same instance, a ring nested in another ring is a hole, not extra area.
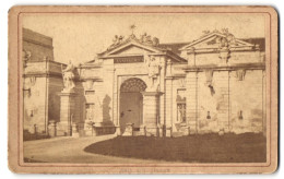
[[(62, 69), (62, 65), (61, 65), (61, 69)], [(62, 75), (63, 75), (63, 84), (64, 84), (63, 91), (73, 90), (75, 87), (75, 84), (74, 84), (74, 67), (71, 63), (71, 61), (69, 61), (67, 68), (62, 70)]]

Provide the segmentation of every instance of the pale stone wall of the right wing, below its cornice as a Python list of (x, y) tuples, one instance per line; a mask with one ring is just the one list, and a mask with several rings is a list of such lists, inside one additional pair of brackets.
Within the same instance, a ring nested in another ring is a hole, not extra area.
[(205, 82), (204, 71), (187, 74), (187, 120), (191, 131), (263, 131), (263, 70), (247, 70), (242, 80), (236, 77), (236, 71), (214, 71), (213, 88)]

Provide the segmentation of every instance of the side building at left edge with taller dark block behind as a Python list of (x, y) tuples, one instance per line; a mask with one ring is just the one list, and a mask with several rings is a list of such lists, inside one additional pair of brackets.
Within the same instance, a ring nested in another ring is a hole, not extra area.
[(48, 135), (49, 121), (60, 119), (63, 88), (61, 65), (54, 61), (52, 38), (23, 28), (22, 60), (24, 69), (24, 140)]

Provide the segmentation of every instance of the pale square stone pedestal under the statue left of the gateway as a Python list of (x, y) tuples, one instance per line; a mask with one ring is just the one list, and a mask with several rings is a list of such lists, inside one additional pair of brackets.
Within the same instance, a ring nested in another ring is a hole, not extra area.
[(72, 122), (75, 116), (75, 96), (74, 92), (61, 92), (60, 96), (60, 121), (58, 131), (63, 135), (72, 135)]

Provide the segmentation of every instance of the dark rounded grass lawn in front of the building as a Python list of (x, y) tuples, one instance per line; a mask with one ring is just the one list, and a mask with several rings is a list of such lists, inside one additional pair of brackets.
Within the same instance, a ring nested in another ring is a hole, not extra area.
[(117, 136), (84, 148), (87, 153), (187, 163), (264, 163), (262, 134), (199, 134), (180, 138)]

